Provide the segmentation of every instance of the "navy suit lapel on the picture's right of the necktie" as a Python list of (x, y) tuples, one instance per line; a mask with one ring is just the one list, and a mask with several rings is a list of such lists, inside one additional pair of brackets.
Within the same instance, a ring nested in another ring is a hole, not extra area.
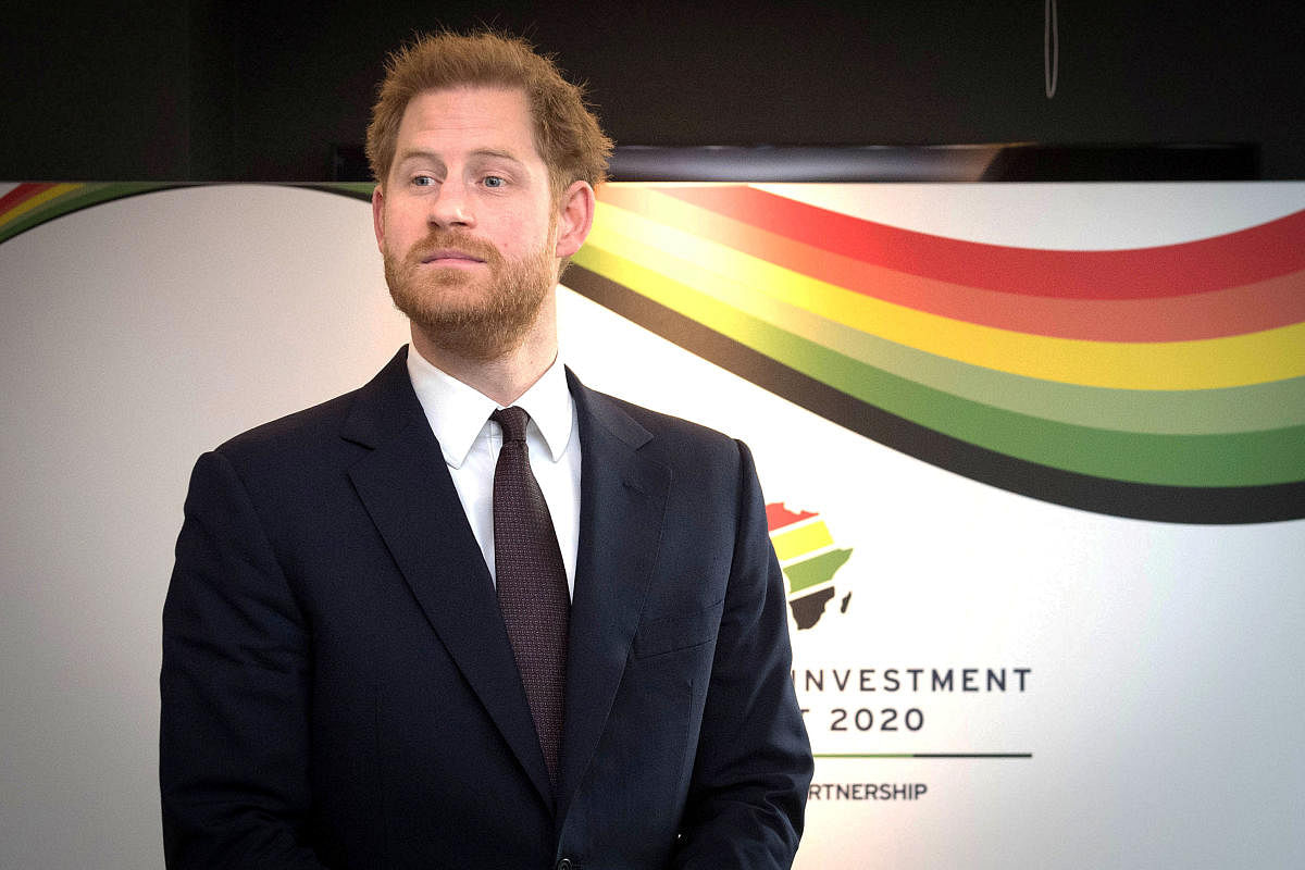
[(568, 372), (581, 434), (581, 524), (566, 661), (559, 820), (589, 767), (656, 562), (671, 471), (643, 459), (651, 434)]

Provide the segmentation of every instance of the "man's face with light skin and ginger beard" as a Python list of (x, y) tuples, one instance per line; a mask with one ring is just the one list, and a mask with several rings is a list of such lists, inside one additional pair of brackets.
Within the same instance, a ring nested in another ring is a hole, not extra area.
[(560, 260), (525, 94), (457, 87), (412, 98), (372, 215), (394, 304), (432, 342), (478, 360), (521, 344)]

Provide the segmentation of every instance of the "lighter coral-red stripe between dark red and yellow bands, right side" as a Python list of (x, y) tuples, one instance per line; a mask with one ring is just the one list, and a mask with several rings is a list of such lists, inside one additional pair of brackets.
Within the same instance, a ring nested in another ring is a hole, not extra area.
[(996, 329), (1100, 342), (1184, 342), (1241, 335), (1305, 321), (1305, 271), (1258, 284), (1159, 299), (1024, 296), (890, 271), (820, 250), (692, 205), (669, 215), (641, 188), (607, 188), (603, 200), (829, 284), (915, 310)]

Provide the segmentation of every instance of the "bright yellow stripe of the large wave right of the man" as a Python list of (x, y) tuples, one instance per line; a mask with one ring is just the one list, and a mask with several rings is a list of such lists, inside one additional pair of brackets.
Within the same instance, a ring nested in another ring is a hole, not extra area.
[(694, 317), (692, 300), (681, 299), (679, 305), (668, 301), (671, 295), (683, 296), (671, 282), (757, 316), (763, 316), (758, 309), (769, 308), (773, 317), (774, 303), (782, 301), (927, 353), (1044, 381), (1129, 390), (1210, 390), (1305, 374), (1305, 323), (1193, 342), (1030, 335), (885, 303), (604, 202), (599, 203), (589, 244), (666, 277), (667, 282), (643, 280), (633, 290), (689, 317)]

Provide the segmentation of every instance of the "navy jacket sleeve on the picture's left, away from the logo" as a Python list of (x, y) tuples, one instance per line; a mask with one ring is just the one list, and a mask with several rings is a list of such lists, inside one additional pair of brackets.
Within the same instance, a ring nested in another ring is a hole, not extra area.
[(163, 605), (168, 867), (321, 867), (308, 830), (309, 635), (231, 463), (196, 463)]

